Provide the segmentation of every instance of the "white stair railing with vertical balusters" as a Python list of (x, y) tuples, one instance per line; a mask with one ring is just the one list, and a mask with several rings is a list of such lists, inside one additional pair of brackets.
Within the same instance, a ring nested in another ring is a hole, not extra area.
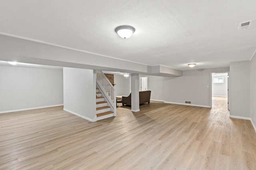
[(96, 70), (96, 82), (100, 84), (104, 94), (108, 97), (111, 106), (116, 108), (116, 89), (101, 70)]

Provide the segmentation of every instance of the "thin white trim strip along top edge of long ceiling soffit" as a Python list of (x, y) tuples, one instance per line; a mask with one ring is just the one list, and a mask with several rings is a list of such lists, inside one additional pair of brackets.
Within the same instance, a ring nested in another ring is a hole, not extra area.
[[(29, 41), (34, 41), (34, 42), (37, 42), (37, 43), (43, 43), (43, 44), (47, 44), (47, 45), (52, 45), (52, 46), (56, 46), (56, 47), (61, 47), (61, 48), (64, 48), (64, 49), (70, 49), (70, 50), (74, 50), (74, 51), (80, 51), (80, 52), (83, 52), (83, 53), (89, 53), (89, 54), (93, 54), (93, 55), (99, 55), (99, 56), (102, 56), (102, 57), (108, 57), (108, 58), (117, 59), (117, 60), (121, 60), (121, 61), (128, 61), (128, 62), (131, 62), (131, 63), (136, 63), (136, 64), (142, 64), (142, 65), (145, 65), (145, 66), (149, 66), (148, 64), (144, 64), (144, 63), (138, 63), (138, 62), (135, 62), (135, 61), (125, 60), (125, 59), (119, 59), (119, 58), (111, 57), (111, 56), (108, 56), (108, 55), (102, 55), (102, 54), (98, 54), (98, 53), (92, 53), (92, 52), (90, 52), (90, 51), (85, 51), (85, 50), (75, 49), (75, 48), (71, 48), (71, 47), (66, 47), (66, 46), (63, 46), (63, 45), (58, 45), (58, 44), (54, 44), (54, 43), (49, 43), (49, 42), (41, 41), (41, 40), (38, 40), (38, 39), (32, 39), (32, 38), (28, 38), (28, 37), (22, 37), (22, 36), (19, 36), (19, 35), (13, 35), (13, 34), (4, 33), (4, 32), (0, 32), (0, 34), (1, 34), (1, 35), (7, 35), (7, 36), (10, 36), (10, 37), (20, 38), (20, 39), (25, 39), (25, 40), (29, 40)], [(176, 69), (176, 68), (174, 68), (174, 69)]]

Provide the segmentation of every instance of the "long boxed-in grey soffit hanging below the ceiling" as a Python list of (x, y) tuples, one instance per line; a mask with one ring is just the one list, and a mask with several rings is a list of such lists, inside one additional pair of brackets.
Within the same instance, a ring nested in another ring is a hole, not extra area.
[[(152, 74), (151, 66), (144, 64), (106, 58), (90, 53), (81, 53), (71, 49), (56, 47), (8, 35), (1, 35), (0, 60), (19, 63), (42, 64), (49, 66), (85, 68), (92, 70), (120, 71), (138, 74)], [(15, 48), (18, 50), (14, 50)], [(30, 50), (33, 49), (33, 50)], [(72, 57), (70, 57), (72, 56)], [(158, 76), (182, 76), (177, 69), (164, 69), (165, 72), (155, 72)]]

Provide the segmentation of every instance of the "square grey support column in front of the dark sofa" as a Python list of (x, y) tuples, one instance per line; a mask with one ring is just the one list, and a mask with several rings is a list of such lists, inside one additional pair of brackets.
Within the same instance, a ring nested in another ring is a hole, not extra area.
[(140, 98), (139, 98), (139, 74), (132, 74), (131, 80), (132, 88), (132, 109), (131, 111), (140, 111)]

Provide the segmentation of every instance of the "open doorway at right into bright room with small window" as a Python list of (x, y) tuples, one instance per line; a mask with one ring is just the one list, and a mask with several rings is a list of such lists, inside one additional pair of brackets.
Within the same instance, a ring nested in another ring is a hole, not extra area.
[(212, 107), (216, 107), (216, 103), (219, 100), (225, 101), (227, 105), (227, 109), (229, 109), (229, 90), (228, 90), (228, 74), (229, 72), (214, 72), (211, 73), (212, 79)]

